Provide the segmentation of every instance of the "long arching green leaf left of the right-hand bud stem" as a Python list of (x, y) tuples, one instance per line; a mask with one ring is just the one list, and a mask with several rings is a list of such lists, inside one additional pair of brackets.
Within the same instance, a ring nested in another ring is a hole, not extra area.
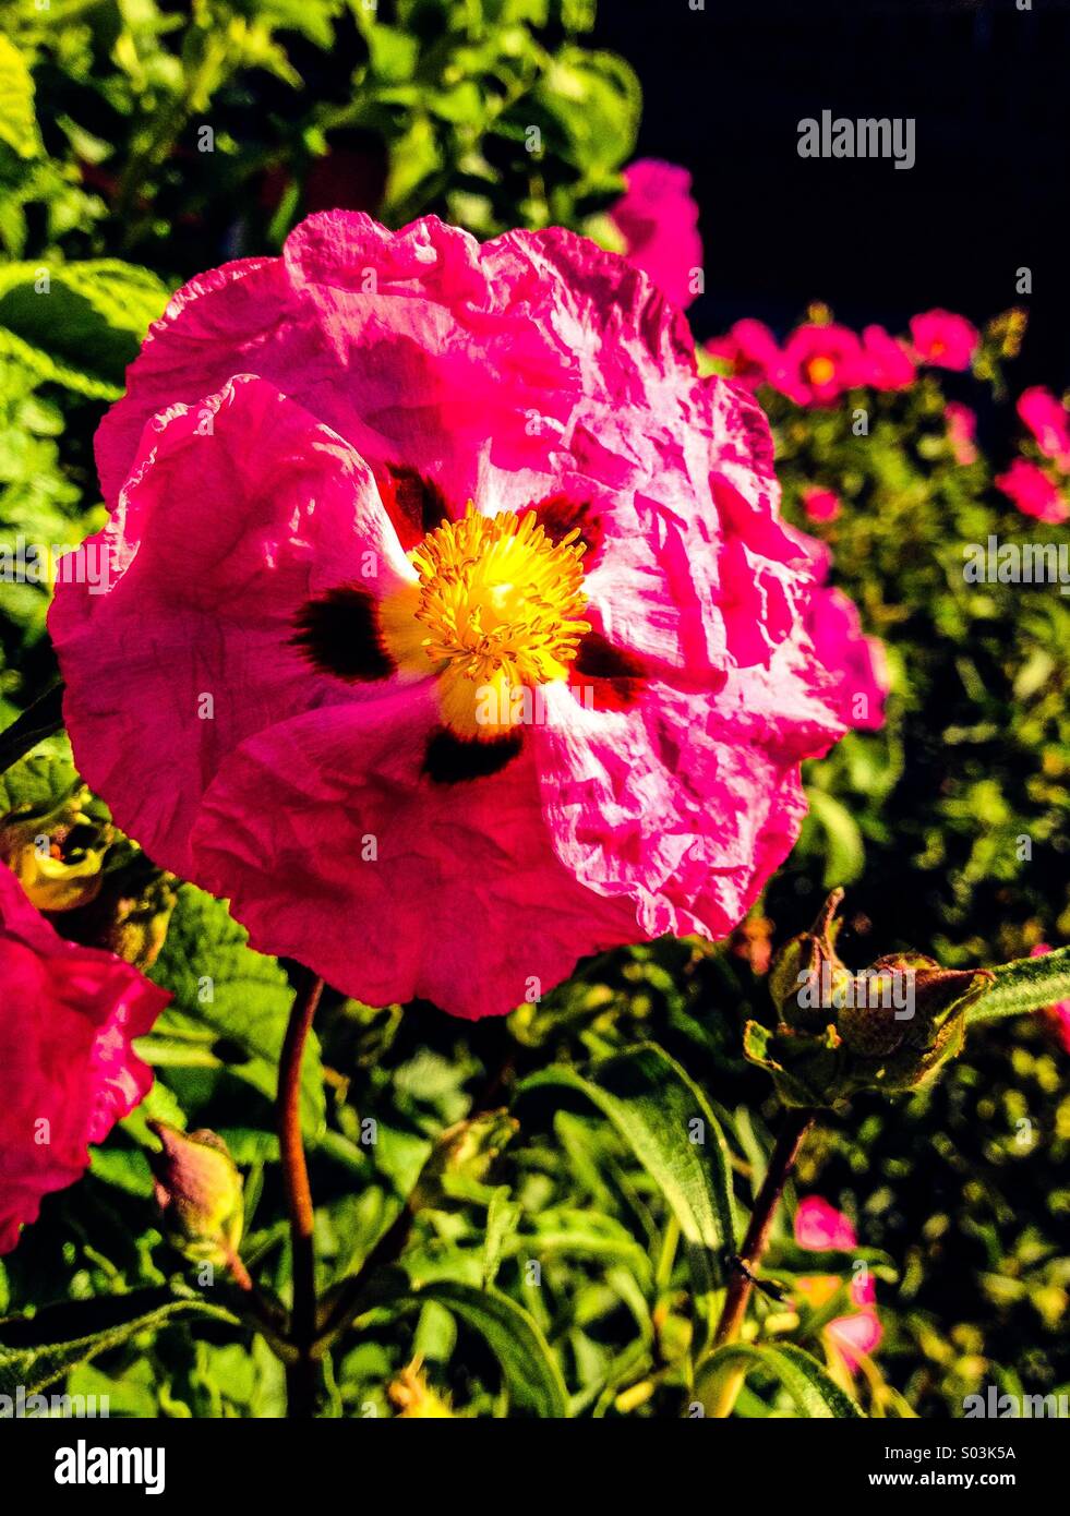
[[(520, 1090), (553, 1085), (597, 1105), (658, 1184), (679, 1222), (709, 1320), (718, 1254), (735, 1237), (735, 1208), (727, 1145), (702, 1090), (656, 1043), (600, 1060), (588, 1078), (555, 1064), (530, 1075)], [(703, 1142), (696, 1143), (694, 1135)]]

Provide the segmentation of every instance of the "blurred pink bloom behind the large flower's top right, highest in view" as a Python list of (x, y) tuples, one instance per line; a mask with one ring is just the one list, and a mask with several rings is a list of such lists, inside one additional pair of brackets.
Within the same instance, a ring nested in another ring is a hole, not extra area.
[(624, 256), (667, 300), (687, 311), (697, 294), (693, 276), (702, 270), (691, 174), (676, 164), (640, 158), (624, 170), (624, 194), (609, 212), (627, 244)]

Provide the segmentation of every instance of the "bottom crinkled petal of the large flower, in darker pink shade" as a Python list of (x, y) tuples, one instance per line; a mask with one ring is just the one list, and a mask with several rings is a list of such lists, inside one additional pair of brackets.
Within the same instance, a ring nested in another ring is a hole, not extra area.
[(555, 860), (533, 756), (435, 785), (421, 772), (433, 726), (420, 688), (250, 738), (211, 787), (194, 850), (253, 946), (373, 1005), (421, 996), (474, 1019), (641, 934), (634, 908)]

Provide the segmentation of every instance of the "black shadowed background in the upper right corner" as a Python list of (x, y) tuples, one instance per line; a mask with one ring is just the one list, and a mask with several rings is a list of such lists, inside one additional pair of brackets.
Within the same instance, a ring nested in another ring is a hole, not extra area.
[[(640, 155), (684, 164), (702, 208), (696, 335), (812, 299), (902, 330), (947, 306), (1031, 312), (1015, 381), (1070, 382), (1070, 3), (600, 0), (596, 32), (644, 86)], [(803, 159), (797, 123), (914, 117), (911, 170)], [(1034, 293), (1015, 293), (1015, 270)]]

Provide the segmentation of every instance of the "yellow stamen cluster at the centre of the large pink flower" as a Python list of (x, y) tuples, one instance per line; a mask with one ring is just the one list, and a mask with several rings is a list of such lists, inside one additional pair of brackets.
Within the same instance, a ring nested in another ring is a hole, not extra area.
[(532, 719), (533, 688), (567, 678), (591, 629), (577, 537), (555, 543), (533, 511), (479, 515), (470, 503), (409, 553), (418, 581), (380, 602), (382, 640), (402, 670), (438, 673), (458, 737), (509, 732)]

